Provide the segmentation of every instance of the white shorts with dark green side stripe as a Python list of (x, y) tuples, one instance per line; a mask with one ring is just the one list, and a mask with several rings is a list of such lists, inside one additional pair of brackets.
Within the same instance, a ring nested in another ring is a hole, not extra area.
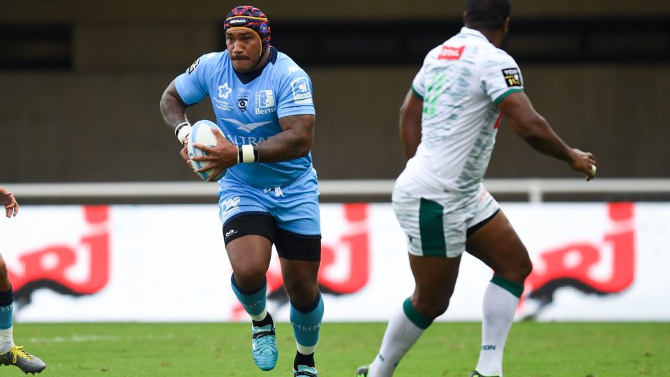
[(500, 209), (481, 183), (470, 194), (410, 192), (396, 184), (392, 202), (396, 219), (407, 235), (408, 251), (415, 256), (460, 256), (466, 251), (468, 229)]

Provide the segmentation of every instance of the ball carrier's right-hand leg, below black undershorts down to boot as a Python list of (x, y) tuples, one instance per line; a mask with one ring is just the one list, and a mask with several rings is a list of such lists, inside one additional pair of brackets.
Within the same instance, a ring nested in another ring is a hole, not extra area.
[(297, 346), (293, 375), (316, 377), (314, 353), (323, 318), (323, 299), (318, 287), (320, 262), (287, 258), (280, 258), (280, 262)]

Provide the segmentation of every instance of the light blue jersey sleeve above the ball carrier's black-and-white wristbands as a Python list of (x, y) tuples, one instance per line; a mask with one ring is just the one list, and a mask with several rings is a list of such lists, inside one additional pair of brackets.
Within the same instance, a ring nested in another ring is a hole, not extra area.
[(316, 114), (312, 98), (312, 80), (296, 64), (279, 68), (277, 116)]

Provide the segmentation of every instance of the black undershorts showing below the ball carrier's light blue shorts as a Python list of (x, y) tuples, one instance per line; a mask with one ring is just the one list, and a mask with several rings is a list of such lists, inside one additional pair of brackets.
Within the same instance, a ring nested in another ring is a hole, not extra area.
[(299, 235), (277, 227), (269, 214), (242, 214), (223, 225), (223, 242), (246, 235), (260, 235), (277, 248), (279, 257), (291, 260), (321, 260), (321, 235)]

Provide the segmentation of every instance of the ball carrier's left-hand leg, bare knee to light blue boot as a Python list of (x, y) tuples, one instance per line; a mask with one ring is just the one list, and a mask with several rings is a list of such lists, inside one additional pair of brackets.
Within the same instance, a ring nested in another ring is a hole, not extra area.
[(246, 235), (226, 246), (232, 266), (232, 289), (251, 316), (251, 356), (264, 370), (273, 369), (278, 350), (275, 325), (267, 312), (265, 273), (270, 265), (272, 244), (260, 235)]

